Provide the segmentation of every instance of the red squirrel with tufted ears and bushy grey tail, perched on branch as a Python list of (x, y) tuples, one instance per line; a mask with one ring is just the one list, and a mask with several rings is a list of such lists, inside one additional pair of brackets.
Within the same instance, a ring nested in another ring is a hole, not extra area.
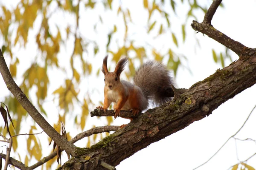
[[(136, 116), (148, 108), (149, 100), (159, 106), (168, 102), (174, 96), (172, 77), (167, 68), (160, 62), (145, 62), (134, 75), (134, 84), (120, 80), (120, 74), (128, 62), (122, 58), (116, 64), (114, 72), (107, 67), (108, 56), (103, 59), (102, 72), (105, 76), (104, 105), (97, 108), (106, 111), (114, 103), (114, 118), (120, 115), (120, 110), (132, 111)], [(132, 118), (126, 118), (131, 119)]]

